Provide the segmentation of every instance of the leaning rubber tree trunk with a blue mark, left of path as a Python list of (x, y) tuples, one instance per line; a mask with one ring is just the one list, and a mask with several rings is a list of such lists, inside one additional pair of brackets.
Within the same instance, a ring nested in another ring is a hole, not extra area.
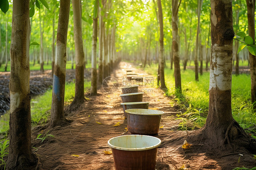
[(64, 95), (67, 61), (67, 28), (70, 0), (60, 0), (60, 14), (56, 37), (56, 58), (53, 71), (50, 127), (66, 124)]

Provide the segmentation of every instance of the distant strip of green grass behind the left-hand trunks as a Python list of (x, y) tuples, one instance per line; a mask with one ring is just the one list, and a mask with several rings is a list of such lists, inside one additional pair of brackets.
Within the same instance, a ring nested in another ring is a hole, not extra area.
[[(86, 64), (86, 68), (92, 68), (92, 63), (90, 61)], [(71, 61), (67, 61), (66, 69), (72, 69)], [(76, 69), (75, 61), (74, 61), (74, 69)], [(40, 70), (40, 64), (36, 62), (35, 65), (33, 65), (33, 62), (30, 62), (30, 70)], [(48, 65), (46, 63), (44, 64), (44, 70), (51, 70), (51, 62), (49, 62)], [(4, 72), (4, 71), (5, 71), (5, 64), (2, 64), (2, 66), (0, 67), (0, 72)], [(7, 71), (10, 71), (10, 61), (7, 64)]]

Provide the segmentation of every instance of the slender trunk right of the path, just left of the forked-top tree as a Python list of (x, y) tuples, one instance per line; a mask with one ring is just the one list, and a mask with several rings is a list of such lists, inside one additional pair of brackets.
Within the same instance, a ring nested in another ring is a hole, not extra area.
[(163, 25), (163, 12), (162, 12), (162, 4), (161, 0), (157, 0), (158, 5), (158, 16), (159, 16), (159, 44), (160, 44), (160, 52), (159, 52), (159, 75), (160, 75), (160, 83), (161, 89), (167, 89), (164, 81), (164, 25)]

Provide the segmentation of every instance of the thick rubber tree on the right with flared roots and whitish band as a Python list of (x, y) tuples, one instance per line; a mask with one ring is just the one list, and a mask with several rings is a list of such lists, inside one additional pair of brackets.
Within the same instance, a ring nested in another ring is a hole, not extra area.
[[(209, 112), (199, 132), (211, 148), (225, 149), (232, 144), (255, 152), (256, 141), (232, 117), (233, 37), (232, 0), (211, 0)], [(199, 139), (202, 141), (199, 136), (195, 140)]]

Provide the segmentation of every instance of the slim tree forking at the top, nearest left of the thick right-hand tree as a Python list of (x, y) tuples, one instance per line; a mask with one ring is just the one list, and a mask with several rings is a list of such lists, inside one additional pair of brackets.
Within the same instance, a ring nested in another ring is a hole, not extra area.
[(175, 78), (175, 89), (179, 90), (181, 93), (181, 76), (180, 76), (180, 66), (179, 66), (179, 5), (181, 0), (172, 1), (172, 27), (173, 27), (173, 57), (174, 57), (174, 78)]

